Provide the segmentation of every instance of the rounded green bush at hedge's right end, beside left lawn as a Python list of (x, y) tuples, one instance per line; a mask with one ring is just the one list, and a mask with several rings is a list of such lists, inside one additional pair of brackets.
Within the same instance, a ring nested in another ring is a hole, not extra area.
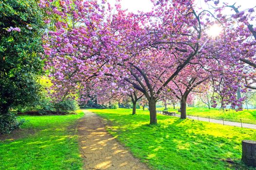
[(54, 107), (58, 113), (71, 113), (79, 108), (77, 102), (71, 99), (56, 102)]

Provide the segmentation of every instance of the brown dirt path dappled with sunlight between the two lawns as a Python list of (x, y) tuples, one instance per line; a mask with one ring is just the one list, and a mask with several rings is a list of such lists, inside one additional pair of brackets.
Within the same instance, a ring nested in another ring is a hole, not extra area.
[(84, 112), (77, 127), (84, 170), (148, 170), (106, 131), (96, 114)]

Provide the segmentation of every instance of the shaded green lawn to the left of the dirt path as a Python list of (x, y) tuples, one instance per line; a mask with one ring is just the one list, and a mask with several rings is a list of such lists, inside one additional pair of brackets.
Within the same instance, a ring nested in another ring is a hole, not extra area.
[[(22, 128), (36, 133), (17, 140), (0, 142), (0, 170), (79, 170), (74, 122), (83, 116), (21, 116), (29, 122)], [(72, 126), (73, 125), (73, 126)]]

